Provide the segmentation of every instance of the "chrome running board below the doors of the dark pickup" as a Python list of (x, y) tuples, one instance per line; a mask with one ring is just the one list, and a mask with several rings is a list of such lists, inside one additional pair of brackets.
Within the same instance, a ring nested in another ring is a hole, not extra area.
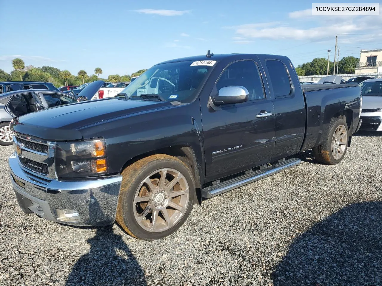
[(295, 167), (300, 164), (301, 160), (298, 158), (291, 158), (288, 160), (280, 160), (278, 163), (270, 165), (260, 170), (252, 171), (248, 170), (246, 174), (236, 177), (221, 183), (217, 183), (207, 188), (202, 189), (202, 197), (210, 199), (218, 194), (223, 194), (225, 192), (234, 190), (241, 186), (253, 183), (255, 181), (261, 180), (262, 178), (269, 177), (271, 175), (277, 174), (283, 170)]

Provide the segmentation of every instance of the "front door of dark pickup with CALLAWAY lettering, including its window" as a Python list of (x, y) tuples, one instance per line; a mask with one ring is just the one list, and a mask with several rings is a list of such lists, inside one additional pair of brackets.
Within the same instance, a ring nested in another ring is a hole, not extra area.
[[(222, 105), (220, 110), (208, 107), (202, 110), (206, 182), (267, 163), (274, 149), (274, 107), (270, 98), (265, 98), (253, 60), (228, 65), (212, 93), (233, 85), (245, 87), (250, 100)], [(257, 117), (265, 112), (266, 117)]]

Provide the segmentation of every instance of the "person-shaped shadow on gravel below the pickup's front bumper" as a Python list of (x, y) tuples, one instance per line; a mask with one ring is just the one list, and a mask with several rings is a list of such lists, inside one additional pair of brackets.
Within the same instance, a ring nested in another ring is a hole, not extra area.
[[(147, 285), (144, 272), (134, 255), (121, 235), (113, 233), (111, 226), (97, 228), (95, 236), (87, 242), (91, 245), (90, 251), (74, 264), (66, 286)], [(121, 257), (117, 252), (128, 258)]]

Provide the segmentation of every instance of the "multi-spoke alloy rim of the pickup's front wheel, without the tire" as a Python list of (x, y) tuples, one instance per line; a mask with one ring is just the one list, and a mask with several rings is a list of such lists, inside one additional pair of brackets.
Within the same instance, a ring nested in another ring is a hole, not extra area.
[(141, 182), (135, 193), (134, 217), (144, 230), (168, 230), (185, 214), (189, 196), (187, 180), (179, 171), (156, 170)]

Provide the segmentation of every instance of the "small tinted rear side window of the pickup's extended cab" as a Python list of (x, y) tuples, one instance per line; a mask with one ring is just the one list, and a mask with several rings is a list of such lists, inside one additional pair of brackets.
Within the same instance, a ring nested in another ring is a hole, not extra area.
[(291, 84), (285, 65), (278, 60), (265, 61), (275, 97), (290, 95)]

